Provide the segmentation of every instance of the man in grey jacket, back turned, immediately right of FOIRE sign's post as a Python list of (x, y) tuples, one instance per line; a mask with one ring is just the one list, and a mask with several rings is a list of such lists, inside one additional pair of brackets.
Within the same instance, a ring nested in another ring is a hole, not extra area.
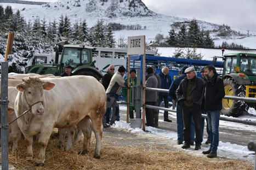
[[(157, 88), (157, 78), (153, 75), (153, 68), (149, 67), (146, 70), (146, 87)], [(156, 105), (157, 101), (157, 92), (146, 90), (146, 104), (148, 105)], [(153, 122), (153, 114), (155, 113), (154, 109), (146, 108), (146, 121), (147, 126), (154, 126)]]

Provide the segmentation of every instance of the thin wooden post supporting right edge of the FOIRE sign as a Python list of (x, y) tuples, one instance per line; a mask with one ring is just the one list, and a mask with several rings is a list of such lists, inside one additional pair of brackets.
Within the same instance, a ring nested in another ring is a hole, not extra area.
[(143, 104), (143, 111), (142, 111), (142, 128), (145, 131), (145, 113), (146, 113), (146, 72), (145, 72), (145, 67), (146, 67), (146, 41), (145, 41), (145, 36), (144, 36), (144, 54), (143, 54), (143, 90), (142, 90), (142, 104)]

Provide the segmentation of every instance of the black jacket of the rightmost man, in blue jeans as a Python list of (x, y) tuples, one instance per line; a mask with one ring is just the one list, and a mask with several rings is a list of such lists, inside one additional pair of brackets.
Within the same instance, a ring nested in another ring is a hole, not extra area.
[(215, 74), (207, 81), (204, 92), (204, 110), (214, 111), (222, 109), (222, 99), (225, 96), (223, 80)]

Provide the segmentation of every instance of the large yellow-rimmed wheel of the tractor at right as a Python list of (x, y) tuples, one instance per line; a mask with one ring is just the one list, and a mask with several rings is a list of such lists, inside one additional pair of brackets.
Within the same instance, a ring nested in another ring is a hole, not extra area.
[[(226, 78), (223, 80), (225, 95), (226, 96), (238, 96), (245, 97), (246, 90), (243, 85), (239, 85), (232, 78)], [(244, 111), (247, 112), (248, 105), (244, 101), (234, 101), (232, 99), (223, 99), (221, 113), (226, 116), (240, 116)]]

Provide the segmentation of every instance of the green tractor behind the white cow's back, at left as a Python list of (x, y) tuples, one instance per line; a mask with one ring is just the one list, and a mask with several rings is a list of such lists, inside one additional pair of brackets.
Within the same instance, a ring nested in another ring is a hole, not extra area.
[(31, 65), (25, 67), (25, 73), (54, 74), (61, 75), (65, 72), (65, 66), (70, 65), (72, 73), (75, 75), (92, 75), (100, 80), (103, 74), (95, 67), (92, 57), (94, 48), (84, 45), (63, 45), (61, 46), (61, 57), (59, 49), (55, 50), (55, 61), (41, 65)]

